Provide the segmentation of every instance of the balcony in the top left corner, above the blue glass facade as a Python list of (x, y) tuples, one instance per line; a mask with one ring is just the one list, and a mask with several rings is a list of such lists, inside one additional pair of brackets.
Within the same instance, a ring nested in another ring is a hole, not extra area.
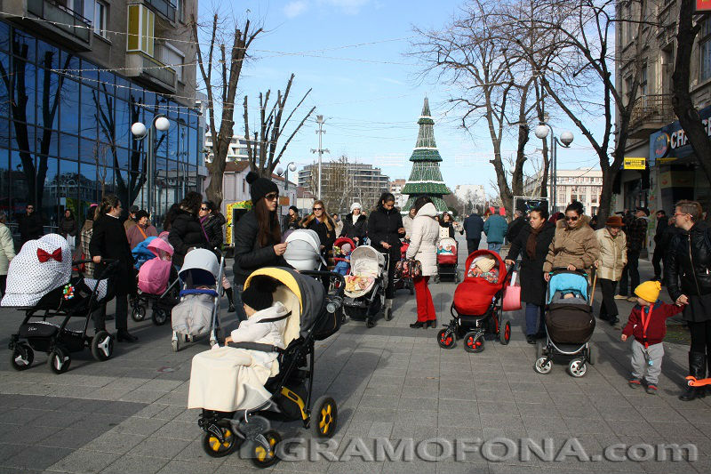
[[(76, 51), (92, 49), (92, 22), (56, 0), (27, 0), (33, 28)], [(38, 20), (33, 20), (36, 18)]]

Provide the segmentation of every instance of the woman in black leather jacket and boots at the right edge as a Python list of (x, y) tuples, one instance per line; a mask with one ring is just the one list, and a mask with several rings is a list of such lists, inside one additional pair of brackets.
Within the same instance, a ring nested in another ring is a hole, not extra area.
[[(669, 296), (683, 309), (689, 325), (689, 375), (707, 377), (711, 366), (711, 229), (701, 221), (701, 205), (679, 201), (675, 206), (674, 225), (681, 230), (669, 244), (664, 270)], [(681, 284), (681, 285), (680, 285)], [(679, 396), (683, 401), (706, 396), (706, 387), (686, 387)]]

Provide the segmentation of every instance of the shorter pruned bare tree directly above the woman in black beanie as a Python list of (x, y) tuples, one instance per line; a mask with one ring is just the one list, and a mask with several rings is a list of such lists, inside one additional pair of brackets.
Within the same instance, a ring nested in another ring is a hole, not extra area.
[[(212, 32), (205, 57), (204, 45), (198, 42), (198, 24), (195, 16), (192, 17), (191, 23), (193, 37), (197, 44), (197, 64), (200, 67), (200, 74), (207, 93), (208, 126), (212, 135), (213, 157), (212, 162), (207, 164), (210, 184), (206, 193), (208, 199), (220, 208), (223, 198), (222, 176), (227, 165), (229, 144), (234, 135), (237, 84), (239, 84), (242, 74), (244, 60), (247, 59), (247, 51), (254, 38), (261, 33), (262, 28), (251, 31), (250, 20), (246, 20), (244, 27), (235, 23), (233, 28), (225, 30), (221, 28), (220, 18), (215, 13), (212, 17)], [(226, 46), (226, 43), (232, 45)], [(216, 47), (220, 54), (220, 68), (215, 72), (213, 60), (215, 60)], [(213, 79), (217, 81), (216, 84), (213, 83)], [(220, 114), (218, 114), (218, 107), (221, 108)]]

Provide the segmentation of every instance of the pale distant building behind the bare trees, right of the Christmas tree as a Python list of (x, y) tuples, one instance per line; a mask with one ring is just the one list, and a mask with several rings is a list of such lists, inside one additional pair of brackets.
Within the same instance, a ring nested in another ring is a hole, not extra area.
[[(579, 168), (577, 170), (558, 170), (556, 202), (551, 209), (562, 211), (572, 201), (579, 201), (585, 207), (585, 213), (593, 216), (600, 207), (600, 194), (603, 191), (603, 172), (601, 170)], [(527, 178), (523, 182), (525, 197), (539, 197), (541, 173)], [(552, 196), (551, 183), (547, 184), (547, 195)]]

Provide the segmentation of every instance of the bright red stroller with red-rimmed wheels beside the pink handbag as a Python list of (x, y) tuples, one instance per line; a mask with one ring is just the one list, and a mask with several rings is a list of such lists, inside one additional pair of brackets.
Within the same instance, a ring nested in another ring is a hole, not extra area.
[(504, 290), (511, 282), (499, 253), (477, 250), (467, 258), (464, 281), (454, 290), (451, 322), (437, 333), (443, 349), (451, 349), (464, 339), (467, 352), (483, 350), (484, 334), (491, 334), (506, 345), (511, 339), (511, 323), (503, 317)]

